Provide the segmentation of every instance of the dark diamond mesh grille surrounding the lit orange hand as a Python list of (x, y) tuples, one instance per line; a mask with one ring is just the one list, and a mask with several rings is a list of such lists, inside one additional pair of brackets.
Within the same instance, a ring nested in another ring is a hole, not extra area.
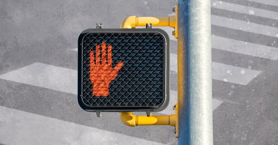
[[(90, 80), (90, 51), (97, 61), (96, 45), (102, 42), (112, 45), (112, 68), (119, 62), (123, 66), (109, 83), (109, 94), (96, 96), (92, 90), (97, 86)], [(164, 36), (156, 32), (87, 33), (82, 39), (83, 103), (111, 108), (160, 106), (164, 102), (164, 49)]]

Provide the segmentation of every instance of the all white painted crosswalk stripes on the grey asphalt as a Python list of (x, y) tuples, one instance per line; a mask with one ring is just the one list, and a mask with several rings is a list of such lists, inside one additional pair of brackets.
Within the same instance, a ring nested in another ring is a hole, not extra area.
[[(266, 8), (252, 7), (252, 5), (246, 6), (245, 4), (233, 0), (212, 0), (211, 2), (212, 8), (215, 8), (215, 11), (225, 10), (241, 14), (242, 17), (254, 15), (278, 21), (278, 9), (276, 11), (270, 11)], [(247, 2), (278, 7), (277, 0), (265, 0), (264, 2), (261, 0), (249, 0)], [(254, 21), (250, 22), (247, 18), (246, 20), (238, 20), (227, 16), (212, 14), (212, 25), (225, 29), (240, 30), (246, 34), (260, 34), (278, 40), (278, 27), (276, 27), (276, 24), (267, 26)], [(159, 28), (164, 29), (168, 33), (171, 43), (177, 43), (177, 40), (171, 36), (173, 29), (166, 27)], [(277, 60), (277, 43), (277, 41), (273, 41), (265, 45), (212, 34), (213, 49), (237, 53), (243, 57), (252, 56)], [(68, 51), (77, 52), (78, 50), (77, 48), (70, 48)], [(171, 77), (177, 77), (177, 63), (177, 54), (171, 53), (170, 71), (173, 72)], [(213, 62), (212, 67), (214, 80), (234, 85), (248, 85), (249, 82), (264, 71), (254, 70), (251, 65), (247, 68), (243, 68), (235, 65), (228, 65), (225, 64), (225, 62)], [(77, 95), (77, 70), (68, 69), (66, 67), (34, 62), (14, 71), (0, 74), (0, 79)], [(169, 106), (160, 113), (167, 115), (173, 114), (174, 110), (172, 110), (172, 106), (176, 102), (177, 90), (171, 89)], [(219, 107), (223, 102), (222, 100), (213, 98), (213, 110)], [(13, 138), (13, 140), (11, 140), (11, 138)], [(163, 145), (126, 134), (100, 130), (70, 121), (0, 106), (0, 144), (42, 145), (45, 143), (49, 145)]]

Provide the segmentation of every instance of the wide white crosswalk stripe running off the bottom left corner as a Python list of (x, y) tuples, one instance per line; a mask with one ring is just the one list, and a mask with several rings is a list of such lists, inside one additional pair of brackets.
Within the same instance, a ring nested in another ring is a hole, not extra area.
[(3, 106), (0, 128), (6, 145), (164, 145)]

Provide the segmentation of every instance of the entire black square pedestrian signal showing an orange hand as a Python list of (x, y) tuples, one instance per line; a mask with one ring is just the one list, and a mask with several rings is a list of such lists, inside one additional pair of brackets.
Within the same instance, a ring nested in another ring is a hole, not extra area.
[(90, 112), (156, 112), (169, 102), (161, 29), (87, 29), (78, 39), (78, 102)]

